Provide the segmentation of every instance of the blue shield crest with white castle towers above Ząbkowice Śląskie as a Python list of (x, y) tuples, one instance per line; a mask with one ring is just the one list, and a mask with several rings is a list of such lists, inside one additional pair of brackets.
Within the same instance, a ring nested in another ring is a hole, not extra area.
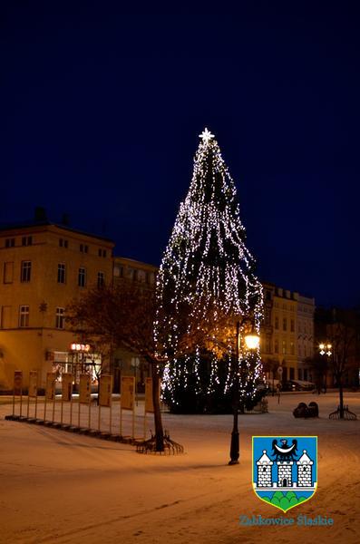
[(253, 436), (252, 483), (259, 499), (287, 512), (317, 487), (317, 436)]

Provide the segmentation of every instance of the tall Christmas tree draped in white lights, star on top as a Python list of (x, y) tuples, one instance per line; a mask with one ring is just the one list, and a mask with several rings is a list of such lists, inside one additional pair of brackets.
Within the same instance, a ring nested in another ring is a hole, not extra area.
[[(234, 181), (217, 141), (205, 129), (157, 282), (155, 339), (167, 361), (164, 400), (174, 412), (229, 409), (235, 331), (229, 335), (226, 356), (223, 350), (217, 354), (216, 349), (204, 349), (201, 335), (208, 335), (213, 345), (218, 339), (223, 345), (224, 319), (243, 316), (251, 316), (259, 332), (262, 287), (245, 238)], [(186, 341), (187, 335), (192, 342)], [(199, 338), (199, 344), (197, 340), (194, 344), (194, 338)], [(255, 396), (259, 353), (241, 348), (240, 360), (240, 398), (246, 403)]]

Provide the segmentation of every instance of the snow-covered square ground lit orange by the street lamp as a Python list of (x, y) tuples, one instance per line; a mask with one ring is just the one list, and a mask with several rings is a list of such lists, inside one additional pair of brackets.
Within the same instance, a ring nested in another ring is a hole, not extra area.
[[(320, 405), (319, 419), (293, 417), (297, 403), (314, 400)], [(170, 457), (141, 455), (122, 443), (8, 422), (4, 416), (12, 406), (2, 403), (0, 542), (358, 544), (360, 393), (345, 393), (345, 403), (358, 416), (355, 422), (328, 420), (328, 413), (336, 409), (336, 393), (289, 393), (279, 404), (277, 397), (268, 401), (269, 413), (239, 417), (241, 458), (236, 466), (227, 465), (229, 415), (163, 414), (171, 438), (186, 450)], [(107, 413), (102, 416), (105, 425)], [(114, 408), (114, 429), (117, 417)], [(139, 418), (137, 430), (141, 428)], [(287, 514), (258, 500), (252, 491), (251, 436), (261, 434), (318, 436), (318, 490)], [(333, 518), (334, 525), (239, 525), (240, 515), (258, 514), (321, 515)]]

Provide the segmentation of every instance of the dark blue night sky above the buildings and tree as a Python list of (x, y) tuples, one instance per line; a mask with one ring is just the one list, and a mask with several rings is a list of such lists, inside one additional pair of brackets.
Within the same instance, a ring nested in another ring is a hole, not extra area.
[(155, 265), (216, 134), (261, 279), (360, 304), (356, 2), (1, 4), (0, 222), (70, 214)]

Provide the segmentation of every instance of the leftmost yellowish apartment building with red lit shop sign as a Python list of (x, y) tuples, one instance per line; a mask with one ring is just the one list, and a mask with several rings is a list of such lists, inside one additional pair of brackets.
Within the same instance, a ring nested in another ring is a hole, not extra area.
[(0, 228), (0, 389), (15, 370), (46, 372), (71, 356), (65, 307), (89, 287), (112, 282), (108, 238), (47, 220)]

